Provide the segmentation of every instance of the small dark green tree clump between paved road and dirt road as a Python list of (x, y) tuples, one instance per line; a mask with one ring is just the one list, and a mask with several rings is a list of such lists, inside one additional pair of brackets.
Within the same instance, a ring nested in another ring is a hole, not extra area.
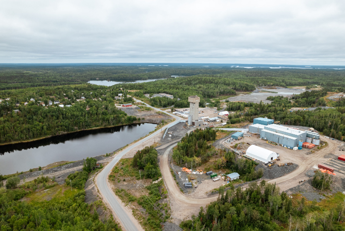
[(133, 168), (142, 171), (143, 176), (153, 178), (160, 176), (158, 166), (158, 152), (153, 146), (146, 146), (142, 150), (138, 150), (132, 161)]

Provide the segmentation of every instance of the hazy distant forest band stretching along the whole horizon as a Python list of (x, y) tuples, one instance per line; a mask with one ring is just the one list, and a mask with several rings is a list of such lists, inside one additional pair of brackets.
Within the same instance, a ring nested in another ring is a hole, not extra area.
[(226, 78), (256, 86), (313, 86), (344, 88), (344, 70), (242, 69), (226, 65), (148, 66), (133, 64), (0, 65), (0, 90), (83, 84), (91, 80), (133, 81), (166, 79), (171, 75)]

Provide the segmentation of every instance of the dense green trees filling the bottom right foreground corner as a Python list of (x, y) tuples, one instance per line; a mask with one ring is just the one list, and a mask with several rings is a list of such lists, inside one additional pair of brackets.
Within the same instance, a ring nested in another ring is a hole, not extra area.
[[(249, 187), (219, 190), (217, 201), (200, 208), (198, 216), (183, 221), (184, 230), (195, 231), (340, 231), (345, 220), (343, 196), (337, 195), (332, 207), (320, 207), (305, 198), (292, 201), (275, 184), (249, 183)], [(338, 197), (339, 196), (339, 197)], [(335, 204), (336, 203), (336, 204)]]

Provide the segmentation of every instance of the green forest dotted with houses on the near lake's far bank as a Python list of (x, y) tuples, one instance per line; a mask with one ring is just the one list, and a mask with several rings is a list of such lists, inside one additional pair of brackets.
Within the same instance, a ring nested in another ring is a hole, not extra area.
[[(137, 118), (127, 116), (115, 107), (114, 96), (119, 93), (127, 94), (126, 91), (95, 85), (1, 91), (0, 97), (8, 100), (0, 103), (0, 143), (131, 124)], [(128, 99), (133, 100), (131, 97)]]

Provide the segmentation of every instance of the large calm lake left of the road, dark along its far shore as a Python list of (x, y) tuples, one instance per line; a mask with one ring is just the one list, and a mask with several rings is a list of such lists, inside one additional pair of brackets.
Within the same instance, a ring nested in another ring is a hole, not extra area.
[(0, 174), (105, 155), (149, 134), (156, 126), (148, 123), (124, 125), (0, 146)]

